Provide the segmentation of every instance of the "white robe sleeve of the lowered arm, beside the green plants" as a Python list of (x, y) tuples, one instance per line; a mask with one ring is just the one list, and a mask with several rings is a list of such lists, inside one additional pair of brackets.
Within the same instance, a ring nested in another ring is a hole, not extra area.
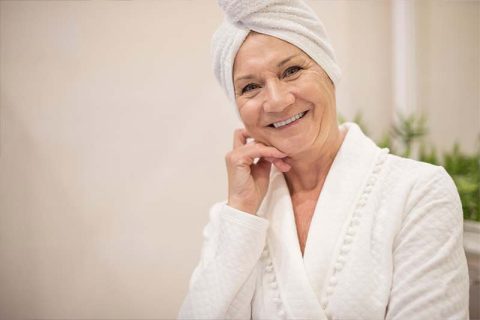
[(386, 319), (468, 319), (463, 214), (442, 167), (413, 187), (393, 247)]

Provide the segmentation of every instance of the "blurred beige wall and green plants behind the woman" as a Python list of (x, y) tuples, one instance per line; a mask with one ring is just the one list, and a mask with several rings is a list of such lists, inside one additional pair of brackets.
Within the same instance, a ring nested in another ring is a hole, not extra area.
[[(463, 188), (478, 286), (480, 2), (308, 3), (341, 119)], [(176, 317), (241, 126), (221, 20), (213, 0), (0, 1), (0, 319)]]

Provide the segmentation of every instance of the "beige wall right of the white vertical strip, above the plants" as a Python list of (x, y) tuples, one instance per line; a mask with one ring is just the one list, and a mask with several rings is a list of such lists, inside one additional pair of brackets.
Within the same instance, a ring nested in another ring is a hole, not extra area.
[(440, 149), (480, 148), (480, 2), (416, 2), (417, 104)]

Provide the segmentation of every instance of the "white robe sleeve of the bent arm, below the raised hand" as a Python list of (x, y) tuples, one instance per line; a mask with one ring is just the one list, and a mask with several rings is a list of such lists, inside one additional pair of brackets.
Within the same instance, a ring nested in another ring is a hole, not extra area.
[(179, 319), (250, 319), (268, 220), (225, 203), (210, 210), (200, 262), (189, 283)]

